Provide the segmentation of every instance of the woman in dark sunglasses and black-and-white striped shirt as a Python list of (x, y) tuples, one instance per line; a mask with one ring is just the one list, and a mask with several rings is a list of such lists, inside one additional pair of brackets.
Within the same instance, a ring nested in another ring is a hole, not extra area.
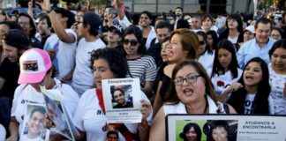
[(147, 56), (143, 35), (138, 26), (128, 26), (124, 31), (124, 55), (132, 78), (139, 78), (142, 91), (150, 99), (157, 68), (152, 56)]

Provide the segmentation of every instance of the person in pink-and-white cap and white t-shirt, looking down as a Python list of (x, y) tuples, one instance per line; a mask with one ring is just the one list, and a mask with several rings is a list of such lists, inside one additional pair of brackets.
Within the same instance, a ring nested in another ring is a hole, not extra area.
[[(9, 129), (11, 136), (7, 141), (16, 141), (19, 139), (19, 130), (21, 130), (24, 120), (26, 105), (37, 104), (46, 105), (44, 96), (41, 93), (40, 85), (50, 89), (58, 89), (64, 96), (64, 107), (69, 115), (74, 114), (77, 107), (79, 96), (70, 85), (62, 84), (54, 78), (56, 71), (52, 67), (48, 52), (32, 48), (20, 57), (20, 75), (18, 83), (20, 84), (14, 95), (11, 108), (11, 122)], [(52, 136), (53, 137), (53, 136)]]

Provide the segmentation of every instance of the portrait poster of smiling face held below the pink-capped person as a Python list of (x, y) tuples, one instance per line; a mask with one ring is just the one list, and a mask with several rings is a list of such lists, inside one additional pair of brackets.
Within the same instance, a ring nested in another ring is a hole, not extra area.
[(43, 106), (30, 104), (26, 106), (20, 141), (49, 140), (49, 130), (44, 127), (44, 115), (46, 113), (47, 110)]

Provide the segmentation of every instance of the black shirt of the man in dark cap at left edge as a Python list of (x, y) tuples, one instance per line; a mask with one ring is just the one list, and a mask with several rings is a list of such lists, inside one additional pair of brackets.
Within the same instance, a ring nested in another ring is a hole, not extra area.
[(0, 97), (6, 96), (13, 98), (14, 91), (18, 86), (19, 72), (18, 63), (11, 63), (6, 57), (0, 66), (0, 77), (5, 80), (4, 85), (0, 90)]

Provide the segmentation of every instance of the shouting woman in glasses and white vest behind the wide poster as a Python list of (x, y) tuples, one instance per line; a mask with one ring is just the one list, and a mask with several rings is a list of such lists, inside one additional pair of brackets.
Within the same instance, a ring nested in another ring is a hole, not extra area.
[(169, 101), (158, 111), (150, 131), (150, 140), (166, 140), (165, 115), (169, 114), (235, 114), (229, 105), (215, 97), (211, 80), (204, 67), (186, 60), (178, 63), (172, 72)]

